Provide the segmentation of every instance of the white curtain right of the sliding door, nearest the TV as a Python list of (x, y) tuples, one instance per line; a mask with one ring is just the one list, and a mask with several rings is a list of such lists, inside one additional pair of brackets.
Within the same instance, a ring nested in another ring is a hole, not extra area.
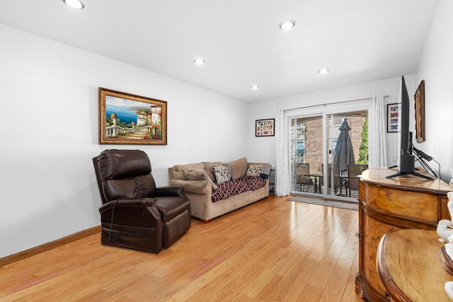
[(369, 100), (368, 110), (368, 166), (383, 167), (387, 165), (386, 149), (386, 113), (384, 98), (373, 95)]

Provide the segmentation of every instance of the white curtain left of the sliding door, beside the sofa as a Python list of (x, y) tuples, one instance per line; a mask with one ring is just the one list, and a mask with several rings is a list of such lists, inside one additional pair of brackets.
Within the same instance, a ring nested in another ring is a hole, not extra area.
[(288, 122), (285, 118), (285, 112), (282, 109), (277, 110), (277, 121), (275, 122), (277, 132), (275, 135), (275, 195), (287, 196), (291, 192), (289, 187), (289, 151), (288, 151)]

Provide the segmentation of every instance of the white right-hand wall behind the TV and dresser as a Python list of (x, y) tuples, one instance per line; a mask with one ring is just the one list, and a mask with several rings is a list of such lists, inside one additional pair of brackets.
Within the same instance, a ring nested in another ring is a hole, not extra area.
[[(418, 64), (416, 85), (425, 80), (426, 141), (417, 144), (441, 165), (442, 180), (453, 169), (453, 1), (441, 0)], [(435, 172), (437, 163), (430, 161)]]

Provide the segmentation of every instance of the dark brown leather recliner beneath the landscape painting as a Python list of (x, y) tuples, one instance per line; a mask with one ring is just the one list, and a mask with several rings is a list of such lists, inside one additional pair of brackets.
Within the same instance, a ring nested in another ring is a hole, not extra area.
[(93, 164), (103, 202), (102, 244), (158, 253), (188, 231), (183, 187), (156, 187), (147, 153), (105, 150)]

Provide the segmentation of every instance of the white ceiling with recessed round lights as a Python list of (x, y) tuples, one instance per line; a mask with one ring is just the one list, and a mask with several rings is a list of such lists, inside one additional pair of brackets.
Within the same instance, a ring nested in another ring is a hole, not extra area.
[(438, 0), (83, 2), (1, 0), (0, 23), (252, 103), (413, 74)]

